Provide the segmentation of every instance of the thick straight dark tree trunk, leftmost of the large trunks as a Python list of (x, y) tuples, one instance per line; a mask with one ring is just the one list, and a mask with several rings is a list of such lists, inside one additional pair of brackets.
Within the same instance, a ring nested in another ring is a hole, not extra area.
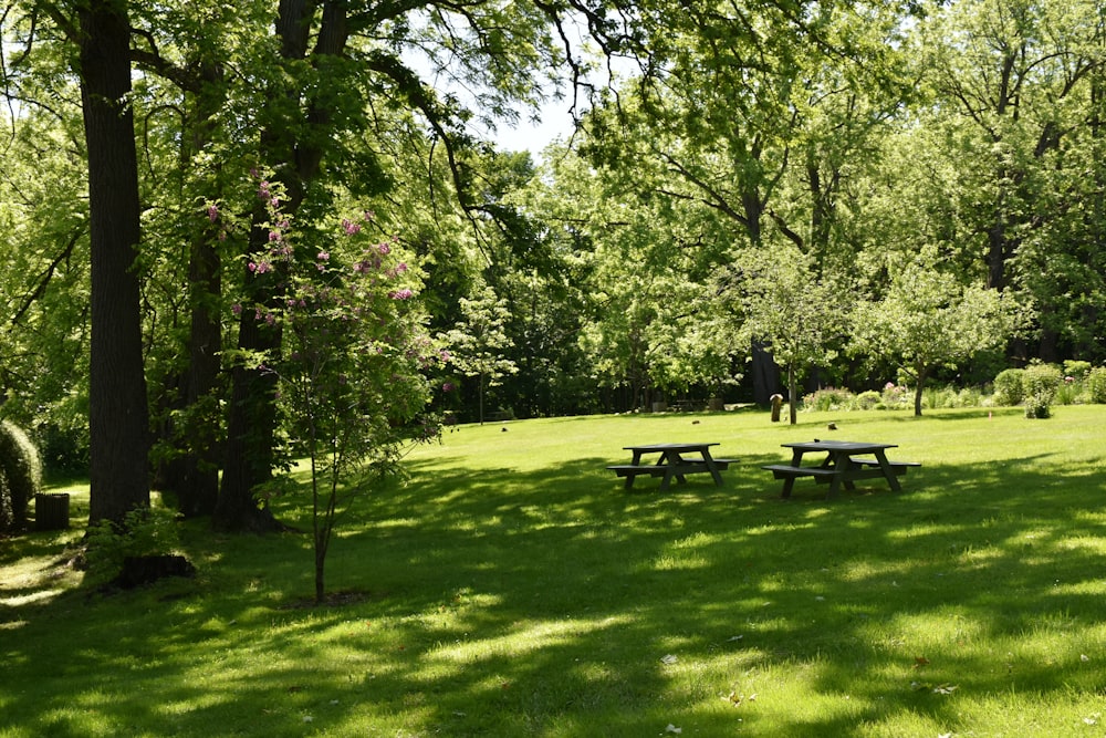
[(126, 4), (112, 0), (88, 0), (80, 22), (92, 252), (88, 522), (122, 522), (131, 510), (149, 506), (131, 27)]

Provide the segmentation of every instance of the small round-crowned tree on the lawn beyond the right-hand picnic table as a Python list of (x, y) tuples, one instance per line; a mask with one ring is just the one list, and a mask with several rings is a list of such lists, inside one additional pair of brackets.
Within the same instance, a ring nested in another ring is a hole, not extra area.
[(898, 361), (915, 382), (914, 414), (921, 415), (926, 380), (980, 351), (1001, 345), (1021, 324), (1021, 311), (1004, 293), (962, 285), (937, 268), (932, 254), (899, 269), (883, 300), (853, 313), (854, 350)]

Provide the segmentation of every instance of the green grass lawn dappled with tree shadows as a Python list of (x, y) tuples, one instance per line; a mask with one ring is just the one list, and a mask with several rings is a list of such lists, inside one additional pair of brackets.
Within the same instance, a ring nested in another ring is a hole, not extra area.
[[(2, 543), (0, 736), (1102, 736), (1106, 407), (1054, 412), (462, 426), (342, 522), (324, 607), (309, 537), (200, 522), (197, 579), (98, 593), (75, 519)], [(781, 500), (815, 437), (924, 466)], [(677, 440), (741, 464), (604, 468)]]

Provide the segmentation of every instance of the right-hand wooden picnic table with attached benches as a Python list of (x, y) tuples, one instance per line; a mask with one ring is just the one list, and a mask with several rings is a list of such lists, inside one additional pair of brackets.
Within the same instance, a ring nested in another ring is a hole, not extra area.
[[(889, 461), (887, 449), (897, 444), (876, 444), (857, 440), (818, 440), (783, 444), (791, 449), (791, 464), (772, 464), (763, 467), (776, 479), (783, 479), (782, 497), (791, 497), (791, 489), (799, 477), (813, 477), (814, 481), (828, 484), (826, 499), (834, 497), (842, 486), (855, 489), (857, 479), (886, 479), (895, 491), (901, 489), (898, 477), (909, 467), (921, 466), (915, 461)], [(825, 458), (817, 466), (803, 466), (806, 454), (823, 453)]]

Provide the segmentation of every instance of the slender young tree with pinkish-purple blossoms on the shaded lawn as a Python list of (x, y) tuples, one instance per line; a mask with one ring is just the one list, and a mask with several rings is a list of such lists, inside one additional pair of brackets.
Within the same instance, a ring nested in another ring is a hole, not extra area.
[(371, 214), (359, 222), (343, 220), (314, 248), (298, 242), (288, 217), (272, 215), (270, 247), (248, 268), (278, 274), (283, 294), (275, 306), (236, 310), (252, 310), (281, 329), (281, 355), (251, 361), (278, 377), (293, 453), (311, 465), (320, 603), (341, 514), (374, 480), (399, 470), (406, 447), (439, 433), (437, 418), (424, 410), (431, 393), (427, 376), (442, 353), (425, 328), (416, 270), (397, 239), (369, 238), (363, 225), (372, 222)]

